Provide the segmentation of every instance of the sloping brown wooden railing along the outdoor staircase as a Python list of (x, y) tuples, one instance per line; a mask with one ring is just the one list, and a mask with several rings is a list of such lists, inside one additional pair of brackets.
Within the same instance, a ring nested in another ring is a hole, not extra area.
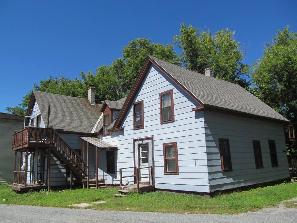
[(87, 164), (84, 163), (84, 160), (75, 152), (71, 146), (57, 133), (57, 131), (51, 128), (51, 138), (50, 142), (52, 144), (52, 148), (55, 148), (60, 154), (64, 155), (64, 157), (68, 160), (71, 165), (73, 165), (78, 171), (84, 173), (87, 176)]

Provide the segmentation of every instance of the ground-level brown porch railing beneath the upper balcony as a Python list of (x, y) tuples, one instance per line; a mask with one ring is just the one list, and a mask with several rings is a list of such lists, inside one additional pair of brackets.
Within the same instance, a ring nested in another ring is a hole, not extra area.
[(44, 170), (28, 171), (26, 176), (25, 171), (14, 171), (13, 184), (17, 186), (43, 184), (44, 172)]

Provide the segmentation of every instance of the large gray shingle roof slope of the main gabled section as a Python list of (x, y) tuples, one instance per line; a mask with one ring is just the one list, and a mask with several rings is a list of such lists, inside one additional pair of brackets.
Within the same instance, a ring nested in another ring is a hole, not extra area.
[(205, 107), (218, 107), (253, 116), (288, 121), (259, 98), (237, 84), (208, 77), (152, 56), (149, 57), (195, 95)]

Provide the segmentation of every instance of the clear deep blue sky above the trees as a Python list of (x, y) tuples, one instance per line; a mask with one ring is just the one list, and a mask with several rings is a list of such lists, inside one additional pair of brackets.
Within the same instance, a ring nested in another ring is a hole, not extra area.
[[(277, 29), (297, 32), (296, 1), (0, 0), (0, 112), (49, 76), (80, 77), (122, 56), (131, 39), (167, 44), (180, 24), (235, 31), (245, 63), (263, 55)], [(179, 49), (175, 49), (180, 52)]]

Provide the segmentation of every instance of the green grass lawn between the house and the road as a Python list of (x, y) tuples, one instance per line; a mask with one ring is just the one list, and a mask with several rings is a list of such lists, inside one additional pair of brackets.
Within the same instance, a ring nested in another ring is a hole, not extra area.
[[(160, 191), (127, 197), (114, 197), (117, 189), (76, 189), (60, 191), (31, 191), (18, 194), (7, 187), (0, 187), (0, 203), (67, 208), (70, 204), (104, 200), (88, 208), (96, 210), (148, 211), (169, 213), (242, 213), (276, 206), (283, 200), (297, 197), (297, 184), (267, 186), (248, 191), (216, 195), (213, 198), (198, 195), (165, 193)], [(5, 201), (2, 201), (5, 199)], [(296, 202), (295, 202), (296, 203)], [(286, 205), (296, 207), (294, 202)]]

